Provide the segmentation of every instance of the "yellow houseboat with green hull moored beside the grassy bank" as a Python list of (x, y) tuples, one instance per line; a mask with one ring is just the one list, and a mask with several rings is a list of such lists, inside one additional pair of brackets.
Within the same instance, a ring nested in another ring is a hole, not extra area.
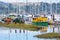
[(47, 17), (36, 17), (33, 18), (33, 25), (37, 26), (48, 26), (48, 18)]

